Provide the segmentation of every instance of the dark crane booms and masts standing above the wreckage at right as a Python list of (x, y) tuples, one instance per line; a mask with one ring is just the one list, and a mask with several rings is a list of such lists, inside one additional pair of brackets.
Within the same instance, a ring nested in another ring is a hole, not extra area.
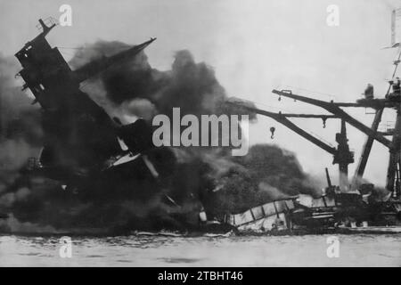
[[(401, 11), (401, 9), (399, 9)], [(396, 11), (392, 13), (392, 43), (389, 48), (399, 47), (400, 44), (396, 43), (395, 40), (395, 19)], [(273, 90), (272, 93), (281, 97), (291, 98), (294, 101), (306, 102), (308, 104), (315, 105), (324, 110), (327, 110), (331, 115), (309, 115), (309, 114), (283, 114), (282, 112), (274, 113), (267, 110), (259, 110), (250, 106), (246, 106), (241, 102), (228, 102), (240, 107), (242, 110), (248, 110), (255, 112), (257, 114), (274, 118), (277, 122), (284, 126), (287, 126), (295, 133), (306, 138), (309, 142), (314, 143), (324, 151), (327, 151), (333, 155), (333, 164), (339, 165), (340, 170), (340, 190), (341, 191), (355, 191), (364, 175), (364, 169), (367, 165), (370, 153), (372, 151), (372, 144), (374, 141), (381, 142), (386, 148), (389, 149), (389, 165), (387, 172), (387, 182), (386, 188), (393, 193), (393, 197), (400, 196), (400, 168), (401, 168), (401, 158), (400, 158), (400, 148), (401, 148), (401, 117), (400, 117), (400, 104), (401, 104), (401, 94), (399, 89), (394, 92), (394, 82), (393, 78), (397, 74), (397, 68), (401, 62), (401, 49), (398, 51), (397, 60), (394, 61), (395, 69), (393, 70), (392, 79), (389, 81), (389, 88), (384, 98), (374, 99), (373, 94), (367, 96), (356, 102), (324, 102), (321, 100), (313, 99), (307, 96), (301, 96), (299, 94), (292, 93), (292, 90)], [(391, 88), (393, 88), (393, 93), (391, 93)], [(342, 108), (370, 108), (375, 110), (375, 117), (372, 122), (372, 126), (365, 126), (362, 122), (358, 121), (353, 116), (349, 115)], [(381, 122), (381, 117), (385, 109), (394, 109), (397, 112), (396, 126), (394, 130), (387, 132), (379, 132), (378, 127)], [(338, 147), (333, 148), (331, 145), (319, 140), (312, 134), (308, 134), (305, 130), (296, 126), (288, 118), (321, 118), (323, 119), (323, 126), (327, 118), (340, 118), (341, 128), (340, 133), (336, 134), (336, 142), (338, 142)], [(348, 165), (354, 162), (354, 153), (349, 151), (348, 138), (346, 123), (351, 126), (356, 127), (359, 131), (366, 134), (367, 138), (364, 142), (363, 151), (359, 159), (358, 165), (356, 167), (356, 172), (352, 180), (351, 187), (349, 189), (348, 185)], [(272, 133), (274, 129), (271, 130)], [(388, 136), (392, 136), (389, 139)]]

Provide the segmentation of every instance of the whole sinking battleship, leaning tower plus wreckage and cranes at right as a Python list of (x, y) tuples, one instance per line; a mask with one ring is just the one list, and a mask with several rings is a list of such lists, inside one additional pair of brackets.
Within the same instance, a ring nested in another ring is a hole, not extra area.
[[(56, 47), (51, 47), (45, 36), (55, 27), (39, 20), (42, 32), (29, 41), (18, 53), (22, 70), (18, 76), (25, 81), (23, 89), (29, 88), (35, 101), (42, 107), (42, 125), (45, 143), (39, 157), (29, 159), (29, 175), (45, 175), (59, 181), (63, 188), (78, 195), (99, 188), (112, 188), (116, 181), (149, 178), (159, 187), (159, 171), (151, 159), (154, 148), (151, 143), (151, 129), (143, 119), (137, 118), (129, 124), (110, 116), (92, 99), (79, 89), (79, 84), (94, 77), (113, 64), (129, 61), (151, 45), (155, 40), (135, 45), (127, 50), (91, 61), (76, 70), (71, 70)], [(401, 53), (394, 62), (396, 69)], [(340, 185), (332, 185), (326, 169), (327, 187), (319, 198), (298, 195), (287, 199), (274, 200), (258, 205), (241, 213), (222, 217), (209, 217), (205, 209), (199, 213), (200, 227), (204, 232), (262, 232), (273, 234), (327, 232), (327, 231), (371, 231), (397, 232), (394, 226), (400, 224), (400, 88), (399, 80), (389, 82), (389, 90), (384, 98), (375, 99), (372, 86), (368, 86), (364, 99), (357, 102), (323, 102), (311, 99), (292, 90), (273, 90), (273, 94), (307, 102), (327, 110), (331, 115), (285, 114), (259, 110), (241, 102), (234, 104), (247, 112), (274, 118), (283, 126), (314, 143), (333, 156), (333, 164), (339, 166)], [(348, 115), (342, 108), (359, 107), (375, 110), (372, 126), (365, 126)], [(392, 130), (379, 132), (381, 115), (385, 109), (397, 111), (396, 126)], [(340, 119), (340, 133), (335, 135), (338, 146), (323, 142), (313, 134), (296, 126), (289, 118), (320, 118), (323, 126), (327, 119)], [(347, 124), (355, 126), (366, 134), (361, 158), (352, 183), (348, 182), (348, 165), (354, 163), (354, 153), (350, 151)], [(270, 131), (272, 136), (275, 128)], [(389, 139), (389, 136), (392, 139)], [(387, 195), (384, 199), (374, 199), (374, 185), (361, 183), (373, 142), (381, 142), (390, 152)], [(145, 181), (147, 179), (141, 179)], [(135, 185), (137, 186), (137, 185)], [(133, 193), (132, 185), (127, 184)], [(140, 186), (139, 186), (140, 188)], [(116, 192), (109, 191), (106, 199)], [(101, 197), (102, 195), (99, 195)], [(174, 199), (167, 197), (172, 203)], [(6, 215), (4, 215), (6, 216)], [(1, 216), (0, 216), (1, 217)]]

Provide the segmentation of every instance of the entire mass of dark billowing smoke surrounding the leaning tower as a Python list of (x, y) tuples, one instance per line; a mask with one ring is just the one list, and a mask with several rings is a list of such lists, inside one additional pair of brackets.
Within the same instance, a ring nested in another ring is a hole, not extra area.
[[(128, 47), (104, 41), (85, 45), (70, 66), (77, 69)], [(222, 216), (315, 189), (293, 154), (272, 145), (256, 145), (245, 157), (232, 157), (226, 148), (153, 151), (150, 159), (160, 171), (160, 182), (141, 179), (127, 185), (119, 183), (121, 196), (110, 190), (115, 187), (113, 181), (100, 181), (99, 189), (94, 187), (83, 194), (62, 191), (58, 183), (24, 171), (27, 159), (37, 155), (43, 134), (40, 112), (27, 103), (26, 95), (21, 96), (11, 76), (17, 70), (12, 70), (15, 66), (10, 62), (0, 61), (0, 95), (6, 109), (12, 110), (12, 115), (5, 116), (3, 129), (18, 126), (20, 132), (11, 132), (1, 142), (4, 151), (0, 152), (0, 162), (7, 167), (1, 171), (4, 178), (0, 181), (0, 212), (12, 214), (11, 218), (0, 220), (3, 231), (183, 230), (197, 224), (202, 206), (209, 216)], [(87, 80), (81, 88), (110, 116), (134, 116), (151, 122), (156, 114), (170, 116), (174, 107), (180, 108), (182, 116), (241, 114), (241, 110), (225, 105), (225, 89), (218, 83), (214, 70), (196, 62), (188, 51), (177, 52), (168, 71), (151, 68), (145, 53), (140, 53), (134, 60), (112, 66)], [(23, 108), (17, 108), (20, 104), (15, 98), (24, 98), (19, 99), (26, 101)], [(255, 114), (249, 115), (251, 120), (255, 119)], [(15, 116), (19, 119), (14, 122)], [(136, 194), (136, 190), (145, 194)]]

